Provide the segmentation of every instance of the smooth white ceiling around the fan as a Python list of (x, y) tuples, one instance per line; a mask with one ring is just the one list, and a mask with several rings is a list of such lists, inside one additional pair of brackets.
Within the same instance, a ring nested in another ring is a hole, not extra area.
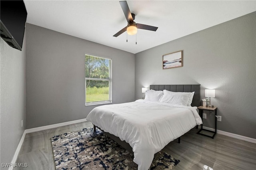
[(256, 11), (256, 0), (128, 0), (136, 23), (158, 27), (138, 29), (136, 44), (136, 35), (128, 35), (128, 42), (126, 32), (113, 37), (127, 25), (118, 0), (24, 1), (30, 24), (134, 54)]

